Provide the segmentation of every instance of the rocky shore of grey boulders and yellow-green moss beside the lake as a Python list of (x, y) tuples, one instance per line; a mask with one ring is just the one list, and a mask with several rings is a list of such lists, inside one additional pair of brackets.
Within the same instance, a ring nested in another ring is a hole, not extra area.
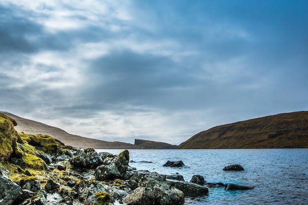
[(0, 146), (1, 205), (182, 205), (185, 197), (207, 196), (209, 187), (251, 188), (136, 170), (129, 166), (128, 150), (114, 155), (64, 146), (46, 135), (17, 133), (5, 116)]

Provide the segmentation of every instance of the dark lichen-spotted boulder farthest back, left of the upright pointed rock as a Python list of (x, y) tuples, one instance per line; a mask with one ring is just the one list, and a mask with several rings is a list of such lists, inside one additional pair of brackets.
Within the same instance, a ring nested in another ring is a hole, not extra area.
[(93, 148), (85, 149), (70, 159), (70, 164), (78, 168), (96, 168), (103, 163), (102, 158)]

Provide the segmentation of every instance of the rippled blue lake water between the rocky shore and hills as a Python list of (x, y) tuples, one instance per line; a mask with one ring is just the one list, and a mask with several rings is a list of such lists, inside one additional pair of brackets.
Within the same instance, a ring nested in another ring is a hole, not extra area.
[[(96, 149), (119, 154), (119, 149)], [(252, 190), (225, 191), (209, 187), (209, 196), (185, 198), (185, 205), (308, 205), (308, 149), (131, 149), (130, 166), (159, 174), (179, 173), (185, 181), (204, 176), (207, 182), (253, 186)], [(182, 160), (185, 167), (163, 167)], [(152, 163), (145, 163), (148, 161)], [(222, 169), (240, 164), (244, 171)]]

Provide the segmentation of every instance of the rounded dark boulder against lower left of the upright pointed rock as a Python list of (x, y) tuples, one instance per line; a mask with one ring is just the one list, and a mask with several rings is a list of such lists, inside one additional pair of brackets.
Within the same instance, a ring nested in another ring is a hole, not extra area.
[(94, 172), (96, 180), (111, 180), (121, 177), (121, 173), (115, 165), (101, 165)]

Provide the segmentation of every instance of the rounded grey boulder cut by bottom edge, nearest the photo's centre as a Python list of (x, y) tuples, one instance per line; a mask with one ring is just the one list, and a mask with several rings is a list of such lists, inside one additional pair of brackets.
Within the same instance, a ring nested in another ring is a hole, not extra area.
[(123, 199), (123, 203), (127, 205), (155, 205), (155, 196), (151, 188), (138, 187)]

